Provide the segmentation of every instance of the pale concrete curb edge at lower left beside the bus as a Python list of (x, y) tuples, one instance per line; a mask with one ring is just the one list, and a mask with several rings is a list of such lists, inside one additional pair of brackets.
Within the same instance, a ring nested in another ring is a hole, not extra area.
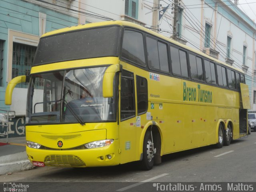
[(0, 157), (0, 175), (32, 169), (26, 151)]

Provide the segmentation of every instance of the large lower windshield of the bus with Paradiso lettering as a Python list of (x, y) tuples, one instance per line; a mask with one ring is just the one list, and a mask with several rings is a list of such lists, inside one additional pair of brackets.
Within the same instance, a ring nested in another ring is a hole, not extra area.
[(107, 68), (32, 75), (27, 124), (116, 121), (115, 96), (102, 96), (102, 80)]

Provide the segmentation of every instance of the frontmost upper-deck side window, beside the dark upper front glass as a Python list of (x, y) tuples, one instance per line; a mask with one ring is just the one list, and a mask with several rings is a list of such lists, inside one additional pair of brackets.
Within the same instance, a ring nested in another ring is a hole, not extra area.
[(146, 66), (143, 36), (139, 32), (124, 30), (122, 58), (140, 66)]

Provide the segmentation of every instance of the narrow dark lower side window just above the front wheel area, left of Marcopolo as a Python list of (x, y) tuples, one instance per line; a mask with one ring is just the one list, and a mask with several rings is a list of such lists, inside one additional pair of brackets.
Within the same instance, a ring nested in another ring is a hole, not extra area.
[(148, 110), (148, 82), (146, 78), (136, 76), (138, 115)]

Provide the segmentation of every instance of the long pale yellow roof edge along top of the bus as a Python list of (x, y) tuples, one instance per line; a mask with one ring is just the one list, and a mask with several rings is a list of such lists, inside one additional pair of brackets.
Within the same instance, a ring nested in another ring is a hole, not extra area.
[(162, 38), (168, 42), (171, 42), (173, 44), (176, 44), (177, 46), (180, 46), (182, 48), (185, 48), (191, 52), (194, 52), (196, 54), (199, 54), (201, 56), (204, 56), (205, 58), (208, 58), (210, 60), (213, 60), (215, 62), (218, 62), (219, 64), (222, 64), (224, 66), (227, 66), (229, 68), (232, 68), (234, 70), (237, 70), (239, 72), (241, 72), (242, 74), (244, 74), (243, 70), (239, 69), (239, 68), (235, 68), (233, 66), (230, 66), (228, 64), (226, 64), (225, 62), (222, 62), (216, 58), (213, 58), (211, 56), (208, 56), (207, 54), (204, 54), (203, 52), (200, 52), (198, 50), (195, 50), (187, 45), (184, 45), (184, 44), (181, 44), (180, 42), (178, 41), (175, 41), (171, 38), (168, 38), (166, 36), (163, 36), (161, 34), (158, 34), (152, 30), (149, 30), (143, 26), (140, 26), (138, 24), (135, 24), (135, 23), (132, 23), (132, 22), (128, 22), (128, 21), (122, 21), (122, 20), (117, 20), (117, 21), (104, 21), (104, 22), (95, 22), (95, 23), (89, 23), (89, 24), (82, 24), (82, 25), (77, 25), (77, 26), (70, 26), (70, 27), (67, 27), (67, 28), (62, 28), (62, 29), (58, 29), (58, 30), (54, 30), (54, 31), (51, 31), (51, 32), (46, 32), (45, 34), (42, 35), (42, 38), (43, 37), (47, 37), (47, 36), (52, 36), (52, 35), (56, 35), (56, 34), (60, 34), (60, 33), (65, 33), (65, 32), (70, 32), (70, 31), (76, 31), (76, 30), (83, 30), (83, 29), (87, 29), (87, 28), (94, 28), (94, 27), (100, 27), (100, 26), (108, 26), (108, 25), (120, 25), (120, 26), (128, 26), (128, 27), (132, 27), (132, 28), (137, 28), (137, 29), (140, 29), (144, 32), (147, 32), (149, 34), (152, 34), (154, 36), (157, 36), (159, 38)]

